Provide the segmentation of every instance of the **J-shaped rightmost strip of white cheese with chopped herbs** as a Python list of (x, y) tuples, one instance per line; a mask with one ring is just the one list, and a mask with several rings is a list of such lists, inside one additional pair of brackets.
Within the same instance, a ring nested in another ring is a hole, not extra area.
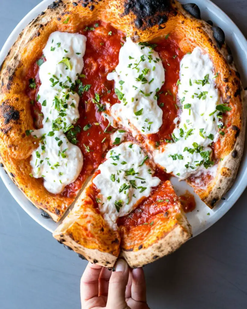
[(217, 140), (220, 123), (216, 111), (220, 95), (213, 69), (212, 61), (199, 47), (186, 54), (180, 63), (180, 122), (173, 131), (174, 142), (154, 151), (155, 162), (180, 179), (205, 171), (213, 164), (208, 146)]

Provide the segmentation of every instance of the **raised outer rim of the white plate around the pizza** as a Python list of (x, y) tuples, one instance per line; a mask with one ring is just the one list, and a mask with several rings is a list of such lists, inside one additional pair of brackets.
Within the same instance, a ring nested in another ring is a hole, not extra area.
[[(181, 2), (188, 3), (189, 1), (183, 0)], [(240, 38), (240, 40), (241, 40), (241, 42), (243, 44), (245, 44), (245, 46), (246, 46), (245, 50), (247, 52), (247, 40), (246, 40), (245, 36), (241, 32), (241, 30), (238, 28), (238, 26), (232, 21), (232, 19), (224, 11), (222, 11), (219, 6), (217, 6), (215, 3), (211, 2), (211, 0), (204, 0), (204, 1), (203, 0), (197, 0), (195, 2), (200, 2), (201, 4), (203, 4), (203, 6), (206, 9), (207, 9), (208, 4), (209, 4), (213, 8), (212, 12), (214, 14), (216, 14), (217, 11), (219, 11), (220, 14), (224, 17), (224, 23), (225, 24), (232, 24), (234, 26), (234, 30), (232, 32), (235, 33)], [(41, 1), (31, 11), (29, 11), (27, 13), (27, 15), (25, 15), (23, 17), (23, 19), (21, 19), (21, 21), (15, 26), (15, 28), (13, 29), (13, 31), (8, 36), (7, 40), (3, 44), (2, 49), (0, 51), (0, 64), (2, 64), (2, 62), (4, 61), (8, 51), (10, 50), (11, 46), (13, 45), (13, 43), (15, 42), (17, 37), (19, 36), (19, 33), (22, 31), (23, 28), (25, 28), (28, 25), (29, 22), (31, 22), (31, 20), (32, 20), (31, 16), (33, 14), (35, 14), (35, 16), (39, 15), (42, 12), (42, 10), (45, 10), (47, 8), (47, 6), (49, 4), (51, 4), (51, 3), (52, 3), (52, 0), (43, 0), (43, 1)], [(11, 42), (13, 42), (13, 43), (11, 43)], [(247, 78), (247, 76), (246, 76), (246, 78)], [(247, 143), (247, 141), (245, 140), (245, 144), (246, 143)], [(243, 162), (243, 157), (244, 157), (244, 153), (243, 153), (243, 156), (242, 156), (242, 159), (241, 159), (241, 163)], [(239, 171), (238, 171), (237, 177), (238, 176), (239, 176)], [(230, 210), (232, 208), (232, 206), (241, 197), (242, 193), (244, 192), (245, 188), (247, 187), (247, 177), (246, 176), (247, 176), (247, 163), (246, 163), (246, 167), (245, 167), (245, 170), (243, 172), (243, 175), (241, 176), (240, 179), (237, 179), (237, 177), (236, 177), (236, 179), (235, 179), (235, 181), (234, 181), (234, 183), (233, 183), (233, 185), (231, 187), (231, 188), (233, 188), (234, 184), (236, 185), (235, 190), (231, 194), (231, 202), (228, 203), (228, 205), (224, 205), (225, 203), (223, 205), (221, 205), (220, 208), (223, 208), (223, 210), (217, 216), (216, 215), (213, 216), (213, 218), (209, 222), (207, 222), (205, 225), (201, 226), (199, 228), (199, 231), (197, 231), (195, 233), (195, 235), (193, 235), (194, 237), (199, 235), (203, 231), (207, 230), (210, 226), (212, 226), (214, 223), (216, 223), (218, 220), (220, 220), (220, 218), (222, 218), (224, 216), (224, 214), (226, 214), (228, 212), (228, 210)], [(1, 177), (4, 185), (6, 186), (6, 188), (8, 189), (10, 194), (12, 195), (12, 197), (22, 207), (22, 209), (32, 219), (34, 219), (37, 223), (39, 223), (46, 230), (48, 230), (50, 232), (53, 232), (54, 230), (49, 226), (49, 225), (52, 225), (52, 224), (48, 224), (47, 225), (45, 223), (46, 221), (45, 221), (45, 219), (43, 219), (40, 216), (40, 210), (38, 208), (36, 208), (33, 205), (33, 207), (37, 210), (37, 214), (34, 214), (34, 213), (32, 213), (31, 210), (29, 210), (29, 207), (27, 207), (27, 203), (31, 203), (31, 202), (27, 199), (27, 197), (24, 195), (24, 193), (17, 187), (17, 185), (10, 179), (10, 177), (5, 174), (4, 169), (0, 169), (0, 177)], [(231, 188), (230, 188), (230, 190), (231, 190)], [(236, 190), (239, 191), (238, 194), (234, 194)], [(20, 200), (20, 197), (19, 197), (20, 194), (22, 194), (23, 197), (25, 198), (25, 202)], [(217, 206), (216, 206), (216, 208), (217, 208)], [(60, 222), (52, 222), (52, 223), (54, 223), (53, 224), (54, 227), (58, 226), (60, 224)]]

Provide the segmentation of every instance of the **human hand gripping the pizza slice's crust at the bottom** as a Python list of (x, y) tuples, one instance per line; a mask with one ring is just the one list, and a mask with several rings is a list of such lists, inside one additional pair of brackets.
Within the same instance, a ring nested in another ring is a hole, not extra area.
[(115, 272), (88, 263), (81, 279), (82, 309), (149, 309), (142, 268), (119, 259)]

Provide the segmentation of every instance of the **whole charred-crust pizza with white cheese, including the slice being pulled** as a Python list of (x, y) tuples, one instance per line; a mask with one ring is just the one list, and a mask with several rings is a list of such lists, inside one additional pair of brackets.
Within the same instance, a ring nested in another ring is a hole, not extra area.
[(191, 237), (194, 202), (171, 176), (210, 208), (235, 180), (245, 91), (223, 30), (195, 4), (55, 1), (0, 74), (2, 166), (93, 263), (140, 267)]

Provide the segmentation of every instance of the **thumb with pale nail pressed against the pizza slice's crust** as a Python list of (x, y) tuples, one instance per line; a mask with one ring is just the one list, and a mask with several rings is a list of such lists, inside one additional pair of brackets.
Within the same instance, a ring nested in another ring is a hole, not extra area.
[(119, 259), (115, 264), (115, 272), (111, 274), (108, 289), (107, 308), (127, 309), (125, 289), (128, 283), (129, 266), (125, 260)]

